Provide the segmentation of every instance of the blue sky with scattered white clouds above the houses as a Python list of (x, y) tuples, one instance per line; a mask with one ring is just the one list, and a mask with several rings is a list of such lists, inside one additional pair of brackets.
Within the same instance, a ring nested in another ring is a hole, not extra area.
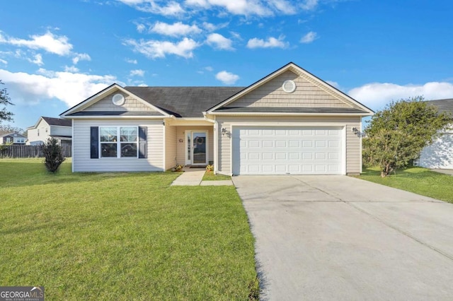
[(371, 107), (453, 98), (453, 1), (4, 1), (0, 79), (25, 129), (111, 83), (246, 86), (293, 61)]

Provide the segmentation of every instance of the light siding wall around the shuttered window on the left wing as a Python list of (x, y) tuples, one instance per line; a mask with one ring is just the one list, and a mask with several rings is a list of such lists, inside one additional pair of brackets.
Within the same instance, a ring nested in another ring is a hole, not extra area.
[[(147, 126), (147, 159), (90, 158), (91, 126)], [(74, 120), (74, 172), (164, 170), (164, 126), (162, 120), (76, 119)]]

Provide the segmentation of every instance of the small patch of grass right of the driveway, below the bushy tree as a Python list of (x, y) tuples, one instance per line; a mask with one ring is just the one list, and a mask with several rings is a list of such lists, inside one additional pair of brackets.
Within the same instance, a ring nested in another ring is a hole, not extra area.
[(426, 168), (409, 167), (382, 178), (379, 168), (374, 167), (358, 178), (453, 203), (453, 177)]

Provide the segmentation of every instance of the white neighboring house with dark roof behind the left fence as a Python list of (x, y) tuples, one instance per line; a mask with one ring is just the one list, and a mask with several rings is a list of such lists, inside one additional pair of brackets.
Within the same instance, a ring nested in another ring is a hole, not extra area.
[(40, 117), (34, 126), (29, 126), (27, 128), (27, 136), (27, 144), (32, 146), (38, 146), (45, 143), (48, 138), (57, 139), (61, 146), (70, 146), (72, 141), (71, 120)]

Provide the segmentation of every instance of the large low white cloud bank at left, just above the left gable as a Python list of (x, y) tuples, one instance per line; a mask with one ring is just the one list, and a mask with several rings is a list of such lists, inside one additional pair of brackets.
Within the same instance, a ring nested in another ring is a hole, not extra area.
[[(98, 76), (68, 71), (40, 69), (41, 74), (10, 72), (0, 69), (0, 78), (8, 84), (11, 99), (39, 103), (57, 98), (72, 107), (116, 81), (115, 76)], [(120, 83), (123, 84), (123, 83)]]

